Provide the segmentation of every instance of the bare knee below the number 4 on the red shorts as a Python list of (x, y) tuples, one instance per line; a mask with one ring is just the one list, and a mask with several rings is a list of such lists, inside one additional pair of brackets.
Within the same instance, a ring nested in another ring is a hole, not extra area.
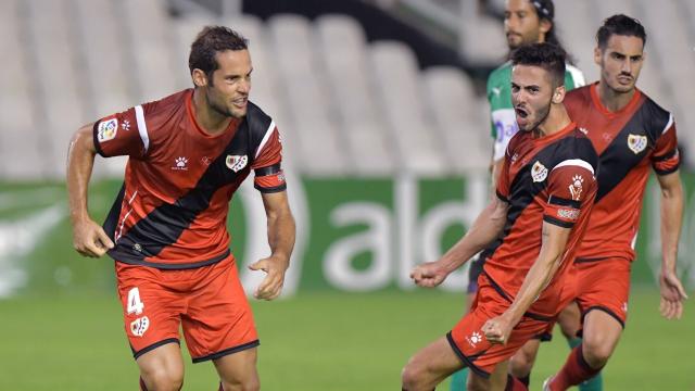
[(184, 382), (184, 358), (178, 343), (165, 343), (136, 360), (140, 376), (148, 387), (153, 384), (180, 384)]

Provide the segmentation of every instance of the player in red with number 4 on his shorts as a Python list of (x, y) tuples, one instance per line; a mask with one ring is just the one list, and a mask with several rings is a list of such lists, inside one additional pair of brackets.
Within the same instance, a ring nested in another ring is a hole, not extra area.
[[(71, 142), (67, 188), (74, 247), (115, 262), (125, 329), (143, 390), (184, 383), (179, 327), (194, 363), (213, 361), (220, 390), (257, 390), (258, 338), (229, 251), (229, 200), (251, 171), (268, 224), (267, 275), (255, 297), (280, 294), (294, 245), (281, 144), (249, 101), (247, 40), (205, 27), (191, 46), (194, 88), (81, 127)], [(94, 155), (128, 155), (103, 228), (87, 211)]]

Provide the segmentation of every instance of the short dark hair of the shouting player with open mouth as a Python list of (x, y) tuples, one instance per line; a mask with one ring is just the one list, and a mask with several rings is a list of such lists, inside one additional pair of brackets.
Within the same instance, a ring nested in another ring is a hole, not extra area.
[(511, 53), (513, 65), (533, 65), (547, 71), (555, 87), (565, 84), (567, 53), (557, 45), (543, 42), (521, 46)]

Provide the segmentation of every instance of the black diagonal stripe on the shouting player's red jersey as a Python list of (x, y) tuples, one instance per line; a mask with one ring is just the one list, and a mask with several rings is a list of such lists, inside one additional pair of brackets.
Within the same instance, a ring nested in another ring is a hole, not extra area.
[[(533, 202), (533, 198), (547, 186), (547, 178), (541, 182), (533, 181), (533, 177), (531, 175), (531, 167), (533, 167), (533, 164), (535, 162), (541, 162), (541, 164), (548, 169), (549, 176), (551, 172), (557, 164), (571, 159), (581, 159), (591, 164), (592, 167), (594, 167), (594, 172), (596, 171), (598, 157), (596, 156), (596, 152), (594, 151), (594, 147), (591, 141), (583, 137), (564, 137), (546, 146), (532, 159), (529, 159), (529, 163), (517, 173), (517, 176), (514, 178), (511, 186), (509, 187), (509, 209), (507, 211), (507, 220), (505, 223), (503, 234), (483, 251), (481, 255), (483, 258), (492, 256), (495, 251), (497, 251), (504, 239), (509, 235), (509, 231), (511, 231), (511, 227), (516, 224), (517, 218), (519, 218), (526, 207)], [(541, 229), (541, 227), (539, 227), (539, 229)]]

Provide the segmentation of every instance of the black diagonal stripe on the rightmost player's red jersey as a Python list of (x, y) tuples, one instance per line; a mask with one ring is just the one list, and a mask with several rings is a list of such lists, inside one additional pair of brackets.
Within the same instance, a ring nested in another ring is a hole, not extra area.
[[(606, 194), (620, 184), (628, 173), (654, 149), (664, 127), (669, 122), (669, 113), (656, 105), (650, 100), (640, 106), (630, 121), (620, 130), (616, 138), (608, 144), (599, 156), (601, 171), (598, 177), (598, 191), (596, 201), (599, 202)], [(647, 146), (639, 153), (634, 153), (628, 147), (630, 135), (646, 136)]]

